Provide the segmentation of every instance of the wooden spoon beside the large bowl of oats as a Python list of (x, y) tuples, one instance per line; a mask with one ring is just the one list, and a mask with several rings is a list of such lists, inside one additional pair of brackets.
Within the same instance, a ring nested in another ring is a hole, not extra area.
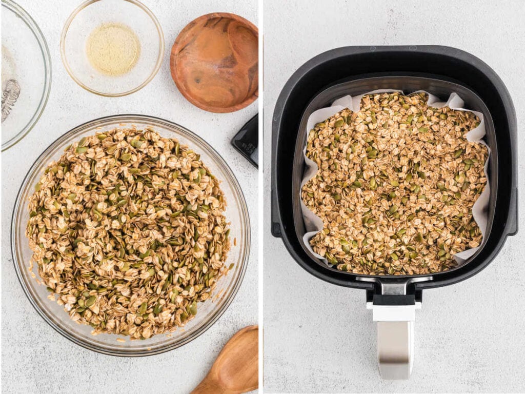
[(259, 327), (235, 334), (192, 394), (240, 394), (259, 387)]

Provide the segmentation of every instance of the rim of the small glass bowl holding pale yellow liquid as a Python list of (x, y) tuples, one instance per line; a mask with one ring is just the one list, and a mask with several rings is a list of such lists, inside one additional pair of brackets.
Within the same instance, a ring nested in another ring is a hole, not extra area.
[(153, 68), (153, 71), (151, 72), (150, 76), (146, 78), (140, 85), (138, 85), (137, 87), (133, 89), (130, 89), (124, 92), (119, 92), (119, 93), (108, 93), (108, 92), (102, 92), (99, 90), (91, 89), (86, 84), (83, 84), (80, 81), (80, 79), (78, 79), (75, 76), (74, 72), (71, 70), (71, 67), (69, 66), (69, 63), (67, 61), (67, 56), (66, 56), (66, 37), (67, 37), (67, 33), (69, 30), (69, 26), (71, 25), (71, 22), (73, 22), (73, 19), (75, 19), (75, 17), (82, 11), (82, 9), (90, 6), (91, 4), (98, 3), (100, 1), (103, 1), (103, 0), (87, 0), (86, 2), (80, 4), (77, 8), (75, 8), (75, 11), (73, 11), (71, 15), (69, 15), (64, 25), (64, 28), (62, 28), (62, 33), (60, 35), (60, 58), (62, 59), (62, 63), (64, 64), (64, 67), (66, 68), (66, 71), (69, 74), (69, 76), (75, 82), (77, 82), (77, 84), (81, 88), (86, 89), (87, 91), (94, 93), (96, 95), (104, 96), (104, 97), (122, 97), (122, 96), (131, 95), (132, 93), (148, 85), (151, 82), (151, 80), (155, 77), (155, 75), (157, 75), (157, 72), (159, 72), (159, 69), (161, 68), (162, 59), (164, 58), (164, 33), (162, 31), (162, 26), (159, 23), (159, 20), (157, 19), (155, 14), (153, 14), (153, 12), (151, 12), (151, 10), (148, 7), (146, 7), (144, 4), (142, 4), (138, 0), (121, 0), (123, 2), (128, 2), (128, 3), (134, 4), (140, 7), (142, 11), (148, 14), (151, 20), (153, 20), (153, 23), (155, 24), (155, 27), (157, 28), (157, 33), (159, 34), (159, 56), (157, 57), (155, 67)]

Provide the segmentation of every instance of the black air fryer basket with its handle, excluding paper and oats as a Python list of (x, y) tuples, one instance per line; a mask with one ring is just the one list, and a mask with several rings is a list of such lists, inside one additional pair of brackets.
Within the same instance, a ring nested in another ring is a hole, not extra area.
[[(302, 149), (309, 115), (345, 95), (375, 89), (405, 94), (426, 90), (446, 101), (453, 91), (465, 108), (484, 114), (485, 141), (491, 149), (487, 231), (479, 250), (449, 271), (413, 276), (369, 276), (338, 271), (304, 246), (300, 211)], [(518, 230), (516, 113), (509, 92), (480, 59), (442, 46), (343, 47), (309, 60), (288, 80), (277, 100), (272, 123), (271, 232), (312, 275), (327, 282), (366, 290), (367, 307), (377, 322), (381, 376), (406, 379), (413, 362), (413, 322), (424, 288), (450, 285), (475, 275)]]

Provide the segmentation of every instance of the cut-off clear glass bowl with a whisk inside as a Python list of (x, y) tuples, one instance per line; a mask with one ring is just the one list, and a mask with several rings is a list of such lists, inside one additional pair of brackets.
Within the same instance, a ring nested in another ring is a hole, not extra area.
[(18, 4), (2, 0), (2, 151), (35, 126), (51, 89), (51, 57), (36, 22)]

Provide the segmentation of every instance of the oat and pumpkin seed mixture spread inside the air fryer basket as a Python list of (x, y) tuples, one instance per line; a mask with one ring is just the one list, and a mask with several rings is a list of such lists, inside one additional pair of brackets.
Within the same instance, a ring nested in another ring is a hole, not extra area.
[(414, 275), (445, 271), (476, 247), (472, 205), (485, 188), (487, 148), (467, 141), (468, 111), (427, 105), (423, 93), (363, 96), (310, 131), (319, 171), (302, 188), (324, 227), (314, 252), (342, 271)]

